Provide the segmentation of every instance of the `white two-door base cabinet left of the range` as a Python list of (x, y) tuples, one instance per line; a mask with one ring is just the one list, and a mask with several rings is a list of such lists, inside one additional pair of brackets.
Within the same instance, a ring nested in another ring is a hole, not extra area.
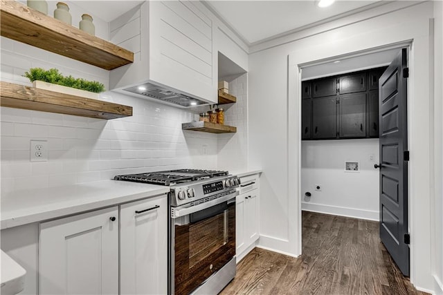
[(120, 204), (120, 211), (114, 206), (40, 223), (39, 294), (166, 294), (167, 200), (162, 195)]

